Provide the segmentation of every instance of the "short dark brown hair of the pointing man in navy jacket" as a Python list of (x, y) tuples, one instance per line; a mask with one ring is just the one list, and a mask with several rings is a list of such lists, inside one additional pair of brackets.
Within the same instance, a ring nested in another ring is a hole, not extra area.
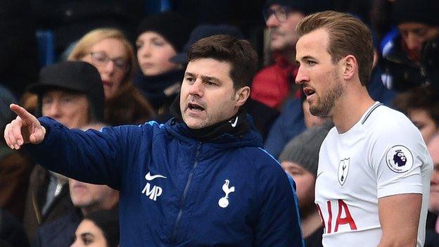
[(230, 78), (235, 90), (250, 86), (257, 70), (257, 54), (250, 43), (229, 35), (213, 35), (195, 42), (188, 51), (188, 61), (198, 58), (230, 63)]

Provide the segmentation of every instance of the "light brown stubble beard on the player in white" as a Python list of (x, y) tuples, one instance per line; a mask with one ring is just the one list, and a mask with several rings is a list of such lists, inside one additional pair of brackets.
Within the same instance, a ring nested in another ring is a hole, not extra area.
[(343, 94), (343, 87), (335, 70), (333, 71), (333, 82), (333, 87), (326, 91), (326, 94), (319, 96), (317, 103), (310, 104), (310, 113), (312, 115), (320, 118), (330, 116), (337, 99)]

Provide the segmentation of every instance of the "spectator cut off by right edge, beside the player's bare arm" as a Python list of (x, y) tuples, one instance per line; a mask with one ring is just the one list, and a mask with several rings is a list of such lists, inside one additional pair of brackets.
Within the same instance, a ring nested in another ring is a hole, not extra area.
[(437, 132), (428, 142), (428, 153), (433, 160), (433, 174), (430, 182), (430, 205), (428, 206), (429, 217), (434, 221), (431, 227), (428, 226), (426, 231), (425, 247), (439, 246), (439, 132)]

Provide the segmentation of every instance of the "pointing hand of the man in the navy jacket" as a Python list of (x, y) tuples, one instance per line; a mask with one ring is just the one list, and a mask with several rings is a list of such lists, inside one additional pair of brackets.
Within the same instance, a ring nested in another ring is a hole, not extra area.
[(10, 148), (19, 149), (23, 144), (39, 144), (44, 140), (46, 129), (25, 108), (12, 103), (9, 108), (17, 118), (6, 125), (4, 139)]

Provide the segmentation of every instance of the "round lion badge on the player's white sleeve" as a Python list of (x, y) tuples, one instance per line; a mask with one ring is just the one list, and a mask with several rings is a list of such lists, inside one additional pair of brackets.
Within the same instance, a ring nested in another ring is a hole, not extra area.
[(412, 152), (402, 145), (393, 146), (386, 153), (386, 163), (393, 172), (407, 172), (413, 166)]

